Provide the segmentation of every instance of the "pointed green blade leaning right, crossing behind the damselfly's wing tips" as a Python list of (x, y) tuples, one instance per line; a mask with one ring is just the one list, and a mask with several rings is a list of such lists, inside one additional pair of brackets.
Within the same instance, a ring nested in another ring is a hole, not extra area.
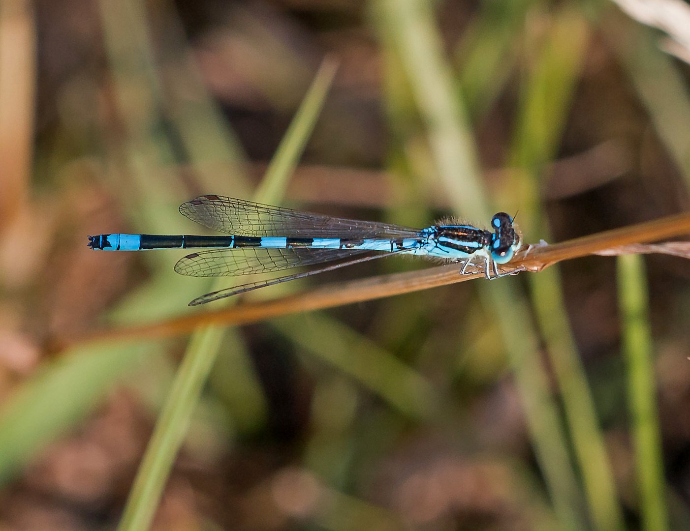
[[(270, 182), (262, 183), (255, 200), (278, 202), (279, 194), (282, 194), (293, 168), (302, 156), (334, 75), (333, 63), (324, 62), (293, 119), (282, 142), (282, 149), (276, 154), (275, 163), (271, 164), (273, 169), (264, 178), (264, 181)], [(149, 528), (225, 332), (222, 327), (208, 327), (193, 334), (144, 453), (118, 526), (119, 531), (144, 531)]]

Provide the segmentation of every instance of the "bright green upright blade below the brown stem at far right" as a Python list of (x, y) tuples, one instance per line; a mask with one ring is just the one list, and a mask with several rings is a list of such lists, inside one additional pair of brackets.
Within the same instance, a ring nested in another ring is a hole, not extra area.
[(669, 528), (661, 432), (656, 403), (654, 359), (644, 257), (616, 259), (622, 350), (627, 362), (628, 401), (635, 447), (640, 513), (644, 531)]

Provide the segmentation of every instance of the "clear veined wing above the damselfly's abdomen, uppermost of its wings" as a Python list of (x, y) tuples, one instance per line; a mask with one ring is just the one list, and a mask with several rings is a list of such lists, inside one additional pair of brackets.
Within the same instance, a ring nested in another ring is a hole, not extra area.
[(420, 232), (390, 223), (299, 212), (219, 195), (202, 195), (182, 203), (179, 211), (208, 228), (241, 236), (387, 239), (413, 238)]

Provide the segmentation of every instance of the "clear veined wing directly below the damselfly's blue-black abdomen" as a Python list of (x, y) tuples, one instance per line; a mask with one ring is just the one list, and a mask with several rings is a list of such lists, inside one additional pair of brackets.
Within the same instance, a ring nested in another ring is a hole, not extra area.
[(190, 277), (229, 277), (315, 265), (354, 257), (363, 252), (375, 251), (314, 248), (213, 249), (188, 254), (175, 264), (175, 271)]

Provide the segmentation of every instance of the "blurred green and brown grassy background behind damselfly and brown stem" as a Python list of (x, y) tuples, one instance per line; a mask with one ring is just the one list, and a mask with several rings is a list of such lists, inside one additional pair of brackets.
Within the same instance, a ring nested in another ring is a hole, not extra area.
[(595, 0), (0, 1), (0, 530), (690, 528), (687, 259), (74, 343), (222, 306), (183, 251), (86, 247), (201, 233), (199, 194), (532, 243), (687, 210), (671, 37)]

